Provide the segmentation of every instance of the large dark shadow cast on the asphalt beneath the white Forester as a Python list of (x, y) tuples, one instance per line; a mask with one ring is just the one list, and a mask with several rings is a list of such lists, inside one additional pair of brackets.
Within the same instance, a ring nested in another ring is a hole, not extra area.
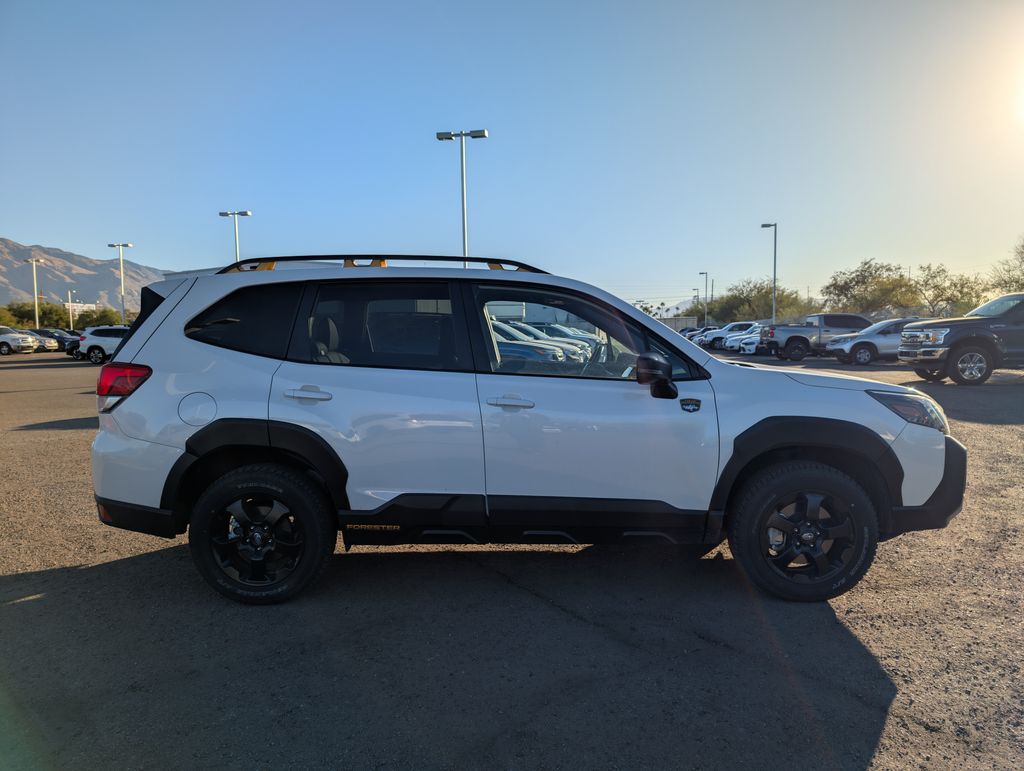
[(239, 605), (173, 546), (0, 577), (14, 765), (865, 768), (895, 687), (828, 604), (672, 550), (338, 554)]

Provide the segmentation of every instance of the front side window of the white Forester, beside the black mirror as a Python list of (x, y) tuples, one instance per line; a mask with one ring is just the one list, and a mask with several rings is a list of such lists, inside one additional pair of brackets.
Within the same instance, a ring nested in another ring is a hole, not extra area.
[(632, 319), (573, 294), (477, 286), (473, 314), (494, 373), (635, 380), (637, 355), (657, 350), (674, 376), (692, 377), (682, 356)]

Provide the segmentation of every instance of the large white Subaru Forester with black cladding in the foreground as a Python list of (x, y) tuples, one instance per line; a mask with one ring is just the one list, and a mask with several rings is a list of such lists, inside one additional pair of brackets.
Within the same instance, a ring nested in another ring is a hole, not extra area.
[[(822, 600), (880, 540), (959, 511), (966, 452), (928, 396), (718, 360), (586, 284), (470, 262), (492, 269), (273, 258), (146, 288), (99, 375), (100, 520), (187, 530), (203, 576), (252, 603), (306, 587), (339, 530), (346, 549), (728, 538), (762, 589)], [(512, 307), (598, 342), (503, 357), (489, 319)]]

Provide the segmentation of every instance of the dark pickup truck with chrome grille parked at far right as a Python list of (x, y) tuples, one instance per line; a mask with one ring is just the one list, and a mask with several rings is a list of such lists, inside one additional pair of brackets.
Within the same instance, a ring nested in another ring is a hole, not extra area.
[(899, 360), (937, 382), (980, 385), (1000, 367), (1024, 366), (1024, 294), (1004, 295), (961, 318), (903, 328)]

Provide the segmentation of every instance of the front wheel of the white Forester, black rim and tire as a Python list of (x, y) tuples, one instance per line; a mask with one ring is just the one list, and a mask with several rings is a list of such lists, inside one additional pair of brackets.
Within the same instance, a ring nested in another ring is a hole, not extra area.
[(760, 589), (816, 602), (863, 577), (874, 559), (879, 521), (867, 494), (842, 471), (791, 461), (743, 485), (730, 507), (728, 533), (732, 555)]

